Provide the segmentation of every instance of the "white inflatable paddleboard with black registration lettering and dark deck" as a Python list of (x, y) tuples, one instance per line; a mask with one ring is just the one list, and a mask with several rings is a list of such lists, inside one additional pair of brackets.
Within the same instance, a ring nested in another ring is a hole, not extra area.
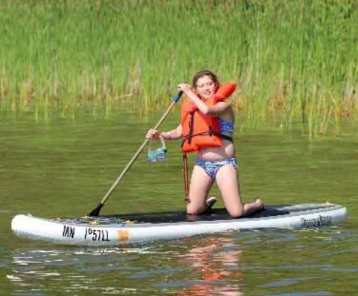
[(337, 224), (345, 217), (345, 207), (324, 203), (270, 205), (240, 219), (230, 218), (225, 209), (215, 209), (200, 216), (157, 212), (56, 220), (21, 214), (13, 217), (11, 228), (18, 237), (51, 243), (116, 246), (237, 229), (323, 227)]

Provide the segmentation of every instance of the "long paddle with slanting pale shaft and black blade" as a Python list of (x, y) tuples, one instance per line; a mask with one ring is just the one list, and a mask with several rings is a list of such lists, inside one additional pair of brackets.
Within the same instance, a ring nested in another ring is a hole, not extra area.
[[(183, 92), (179, 91), (179, 93), (177, 93), (177, 96), (174, 96), (173, 102), (170, 104), (170, 106), (168, 107), (167, 111), (162, 115), (162, 118), (160, 118), (160, 120), (155, 125), (155, 127), (153, 127), (153, 130), (157, 130), (158, 127), (160, 127), (160, 125), (163, 123), (164, 119), (167, 118), (167, 115), (169, 114), (170, 110), (172, 110), (172, 108), (177, 103), (177, 101), (179, 101), (179, 98), (181, 97), (182, 94), (183, 94)], [(127, 173), (127, 171), (130, 169), (130, 166), (133, 165), (134, 161), (138, 158), (140, 152), (142, 152), (142, 150), (145, 148), (145, 145), (147, 144), (147, 142), (149, 140), (150, 139), (145, 139), (143, 144), (139, 147), (138, 151), (135, 152), (135, 154), (132, 157), (132, 159), (130, 159), (130, 161), (127, 164), (127, 166), (125, 166), (125, 169), (123, 169), (121, 175), (118, 176), (117, 180), (113, 183), (112, 187), (109, 188), (109, 190), (106, 193), (106, 195), (104, 195), (104, 198), (102, 198), (102, 200), (99, 203), (99, 205), (97, 205), (87, 216), (98, 216), (99, 215), (99, 212), (101, 211), (101, 208), (104, 206), (104, 203), (106, 203), (106, 200), (109, 198), (109, 196), (113, 192), (114, 188), (116, 188), (116, 186), (122, 180), (122, 178), (125, 175), (125, 173)]]

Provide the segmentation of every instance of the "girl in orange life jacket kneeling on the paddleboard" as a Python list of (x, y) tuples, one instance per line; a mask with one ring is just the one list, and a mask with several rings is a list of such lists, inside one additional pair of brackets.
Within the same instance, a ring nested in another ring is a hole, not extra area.
[(191, 174), (186, 212), (200, 215), (208, 210), (208, 193), (216, 181), (226, 210), (231, 217), (241, 217), (261, 210), (261, 200), (242, 203), (237, 178), (237, 162), (233, 144), (235, 115), (225, 100), (235, 90), (235, 84), (219, 86), (213, 72), (198, 72), (193, 84), (179, 84), (186, 96), (181, 109), (181, 123), (169, 132), (149, 130), (147, 138), (174, 140), (183, 138), (183, 152), (196, 152), (196, 164)]

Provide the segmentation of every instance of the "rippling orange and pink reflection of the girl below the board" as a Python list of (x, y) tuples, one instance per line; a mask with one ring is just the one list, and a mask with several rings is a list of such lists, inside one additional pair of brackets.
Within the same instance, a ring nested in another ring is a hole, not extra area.
[[(194, 239), (186, 239), (189, 242)], [(240, 269), (242, 250), (230, 249), (230, 239), (210, 237), (200, 246), (188, 249), (186, 254), (177, 257), (181, 264), (195, 268), (198, 278), (177, 295), (206, 296), (206, 295), (243, 295), (244, 271)]]

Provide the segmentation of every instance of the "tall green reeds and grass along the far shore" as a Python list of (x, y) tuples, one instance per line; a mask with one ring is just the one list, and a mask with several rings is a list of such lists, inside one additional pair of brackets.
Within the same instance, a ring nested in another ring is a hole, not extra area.
[(163, 110), (201, 69), (255, 125), (339, 133), (358, 113), (358, 1), (0, 1), (0, 114)]

